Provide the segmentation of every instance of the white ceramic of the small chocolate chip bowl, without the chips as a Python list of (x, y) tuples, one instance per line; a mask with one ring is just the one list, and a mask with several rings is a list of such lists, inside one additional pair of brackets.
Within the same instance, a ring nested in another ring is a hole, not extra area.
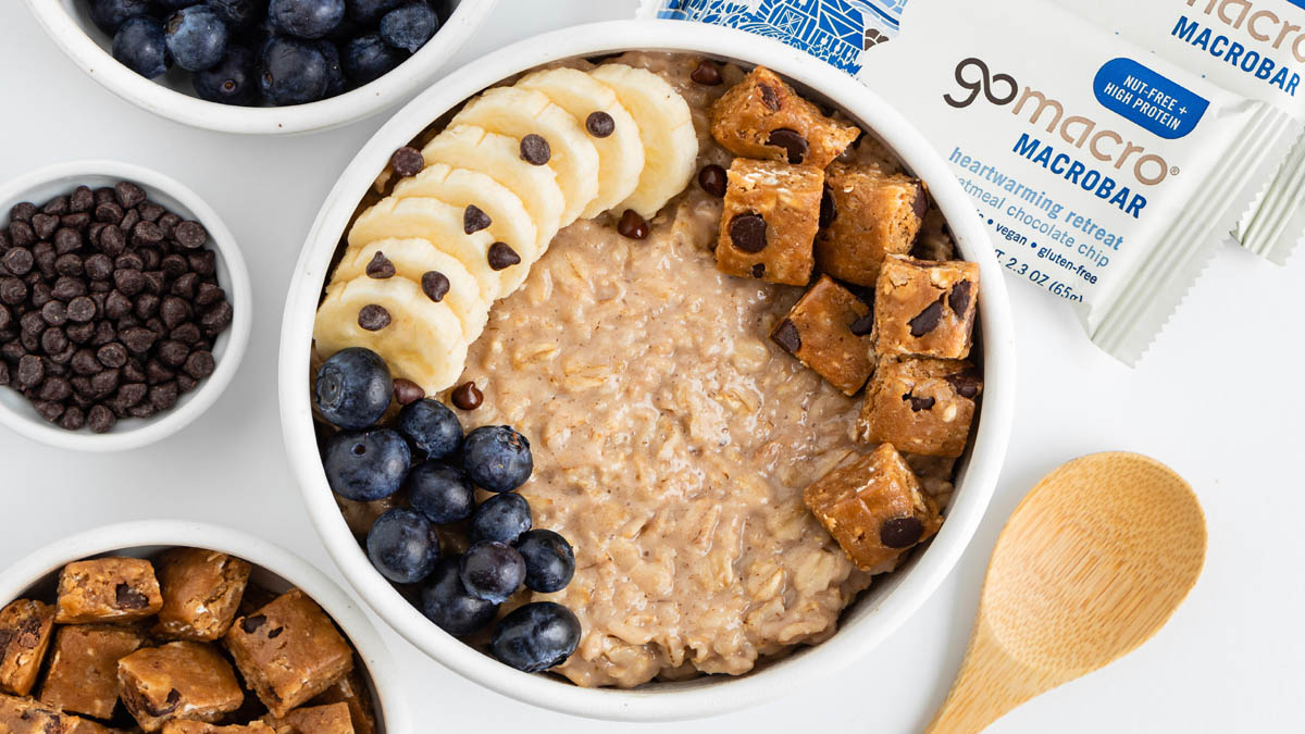
[(0, 388), (0, 423), (34, 441), (64, 449), (102, 452), (140, 448), (166, 439), (198, 418), (218, 400), (222, 391), (231, 384), (231, 377), (244, 358), (253, 312), (253, 294), (244, 257), (240, 256), (235, 236), (222, 223), (218, 213), (205, 204), (200, 195), (177, 180), (150, 168), (117, 161), (56, 163), (0, 184), (0, 226), (9, 223), (9, 208), (20, 201), (31, 201), (40, 206), (50, 199), (72, 193), (78, 185), (98, 188), (124, 180), (134, 182), (144, 188), (151, 201), (179, 217), (194, 219), (209, 230), (206, 247), (217, 253), (218, 283), (226, 290), (232, 310), (231, 327), (213, 343), (217, 370), (201, 380), (193, 391), (181, 394), (171, 410), (151, 418), (120, 419), (104, 434), (94, 434), (90, 428), (65, 431), (42, 418), (18, 392)]

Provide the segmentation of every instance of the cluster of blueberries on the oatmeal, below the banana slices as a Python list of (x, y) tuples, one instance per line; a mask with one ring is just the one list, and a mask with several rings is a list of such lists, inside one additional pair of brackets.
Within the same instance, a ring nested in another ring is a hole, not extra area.
[(579, 644), (576, 614), (526, 602), (576, 573), (570, 543), (532, 528), (514, 491), (534, 471), (530, 440), (510, 426), (463, 434), (452, 409), (402, 383), (364, 347), (329, 357), (313, 383), (318, 421), (338, 428), (321, 443), (326, 482), (343, 503), (381, 509), (364, 543), (372, 566), (445, 632), (476, 646), (489, 632), (484, 649), (501, 662), (526, 673), (564, 662)]

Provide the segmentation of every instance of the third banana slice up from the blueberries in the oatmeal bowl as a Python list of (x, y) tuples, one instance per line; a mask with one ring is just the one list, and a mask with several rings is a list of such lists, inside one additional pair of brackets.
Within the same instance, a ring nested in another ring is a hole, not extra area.
[(462, 227), (462, 209), (438, 199), (382, 199), (354, 221), (354, 227), (348, 230), (348, 244), (361, 247), (392, 238), (424, 239), (462, 263), (480, 283), (480, 295), (493, 303), (517, 290), (526, 279), (530, 264), (518, 261), (496, 270), (491, 265), (495, 239), (484, 230), (468, 235)]

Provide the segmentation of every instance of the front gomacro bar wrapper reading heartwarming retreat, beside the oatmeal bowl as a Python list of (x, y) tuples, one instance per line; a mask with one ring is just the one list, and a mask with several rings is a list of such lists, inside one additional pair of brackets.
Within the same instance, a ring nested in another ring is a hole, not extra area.
[(1077, 304), (1092, 341), (1134, 363), (1297, 123), (1053, 0), (646, 0), (641, 12), (797, 29), (787, 43), (825, 48), (838, 24), (889, 35), (887, 5), (897, 37), (835, 65), (951, 163), (1009, 276)]

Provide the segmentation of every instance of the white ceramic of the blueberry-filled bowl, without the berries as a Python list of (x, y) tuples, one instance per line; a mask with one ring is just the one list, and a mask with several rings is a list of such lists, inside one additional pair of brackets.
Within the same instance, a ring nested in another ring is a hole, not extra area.
[(90, 21), (89, 0), (27, 0), (40, 27), (77, 67), (104, 89), (142, 110), (221, 132), (282, 135), (339, 127), (373, 115), (425, 86), (462, 47), (499, 0), (448, 0), (448, 20), (412, 57), (384, 77), (330, 99), (290, 107), (234, 107), (196, 97), (189, 74), (176, 69), (147, 80), (119, 64), (112, 38)]

